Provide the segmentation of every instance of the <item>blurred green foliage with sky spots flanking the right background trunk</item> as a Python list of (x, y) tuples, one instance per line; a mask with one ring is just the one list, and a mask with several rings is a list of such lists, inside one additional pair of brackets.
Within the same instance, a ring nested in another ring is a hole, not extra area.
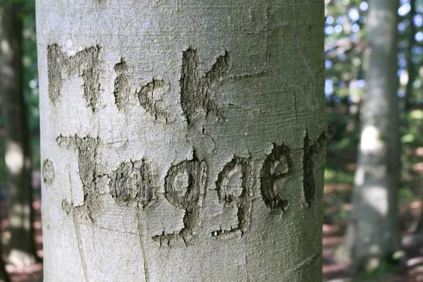
[[(325, 95), (329, 124), (335, 129), (333, 142), (326, 157), (326, 184), (353, 185), (355, 152), (360, 139), (360, 105), (366, 90), (365, 47), (366, 16), (369, 5), (362, 0), (326, 0)], [(414, 12), (410, 4), (414, 4)], [(413, 14), (410, 14), (413, 13)], [(410, 200), (421, 193), (422, 176), (416, 164), (423, 161), (416, 149), (423, 147), (422, 61), (423, 61), (423, 1), (400, 0), (398, 9), (398, 90), (399, 106), (403, 109), (408, 82), (407, 70), (415, 70), (411, 77), (411, 109), (401, 114), (401, 144), (403, 156), (399, 197)], [(411, 25), (413, 28), (411, 28)], [(410, 40), (412, 38), (413, 40)], [(412, 44), (412, 45), (410, 45)], [(411, 50), (411, 52), (410, 52)], [(407, 68), (407, 65), (410, 68)], [(422, 153), (423, 157), (423, 153)], [(422, 168), (423, 174), (423, 168)]]

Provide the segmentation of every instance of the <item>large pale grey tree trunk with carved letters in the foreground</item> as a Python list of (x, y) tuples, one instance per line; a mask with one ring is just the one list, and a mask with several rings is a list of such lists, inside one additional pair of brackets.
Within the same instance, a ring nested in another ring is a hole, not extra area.
[(37, 1), (45, 281), (321, 281), (306, 2)]

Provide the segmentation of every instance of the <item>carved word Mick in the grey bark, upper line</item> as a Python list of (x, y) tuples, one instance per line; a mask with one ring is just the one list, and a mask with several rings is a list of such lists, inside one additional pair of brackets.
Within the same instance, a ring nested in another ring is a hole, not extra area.
[[(56, 45), (47, 47), (49, 98), (55, 103), (61, 97), (63, 80), (71, 75), (78, 75), (83, 80), (83, 96), (87, 108), (95, 112), (100, 102), (100, 73), (103, 63), (100, 59), (100, 47), (90, 47), (79, 51), (74, 56), (67, 56)], [(180, 67), (180, 105), (188, 125), (195, 118), (197, 109), (202, 109), (206, 115), (214, 114), (222, 117), (223, 111), (216, 104), (214, 87), (226, 78), (230, 67), (228, 52), (216, 59), (212, 68), (203, 73), (200, 56), (197, 50), (188, 48), (183, 51)], [(118, 111), (125, 111), (130, 97), (137, 97), (140, 106), (154, 119), (167, 121), (170, 112), (163, 104), (163, 95), (169, 91), (169, 84), (164, 80), (150, 78), (141, 85), (130, 84), (132, 80), (128, 73), (128, 65), (121, 61), (114, 66), (116, 79), (114, 81), (114, 98)]]

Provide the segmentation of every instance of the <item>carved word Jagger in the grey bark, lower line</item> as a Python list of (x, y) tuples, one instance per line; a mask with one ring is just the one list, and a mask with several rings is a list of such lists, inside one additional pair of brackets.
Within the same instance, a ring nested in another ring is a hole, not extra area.
[[(318, 140), (312, 142), (306, 135), (304, 140), (303, 169), (304, 195), (310, 206), (314, 200), (314, 159), (316, 154), (323, 156), (324, 147), (329, 142), (331, 134), (324, 132)], [(78, 168), (82, 182), (84, 202), (74, 206), (66, 200), (62, 202), (63, 210), (73, 216), (94, 219), (104, 210), (102, 195), (97, 187), (100, 177), (109, 181), (109, 191), (116, 203), (130, 205), (137, 209), (145, 208), (154, 199), (154, 184), (152, 170), (145, 159), (121, 163), (116, 171), (100, 176), (97, 168), (97, 149), (101, 140), (94, 137), (59, 136), (56, 139), (60, 147), (78, 151)], [(270, 154), (264, 159), (260, 171), (260, 192), (262, 200), (271, 211), (286, 212), (288, 200), (283, 198), (281, 188), (283, 179), (293, 176), (292, 152), (286, 145), (274, 145)], [(44, 183), (51, 184), (54, 179), (51, 174), (52, 162), (48, 159), (43, 162)], [(195, 155), (191, 160), (181, 161), (171, 166), (164, 178), (164, 197), (174, 207), (183, 209), (184, 227), (174, 234), (154, 235), (152, 239), (160, 245), (171, 245), (176, 241), (188, 242), (195, 238), (200, 228), (200, 211), (206, 197), (207, 166)], [(236, 209), (238, 225), (228, 229), (212, 232), (216, 238), (233, 238), (242, 236), (250, 225), (252, 209), (252, 193), (255, 176), (253, 175), (252, 161), (243, 157), (233, 157), (223, 166), (216, 180), (216, 192), (219, 202), (224, 209)]]

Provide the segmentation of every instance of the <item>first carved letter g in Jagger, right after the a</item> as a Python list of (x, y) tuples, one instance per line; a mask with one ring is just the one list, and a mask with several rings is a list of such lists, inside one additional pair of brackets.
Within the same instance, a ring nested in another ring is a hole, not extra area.
[(205, 197), (206, 164), (197, 157), (182, 161), (169, 168), (164, 178), (165, 197), (173, 206), (185, 210), (184, 228), (179, 234), (156, 235), (153, 240), (161, 245), (182, 238), (185, 243), (195, 235), (200, 226), (200, 208)]

